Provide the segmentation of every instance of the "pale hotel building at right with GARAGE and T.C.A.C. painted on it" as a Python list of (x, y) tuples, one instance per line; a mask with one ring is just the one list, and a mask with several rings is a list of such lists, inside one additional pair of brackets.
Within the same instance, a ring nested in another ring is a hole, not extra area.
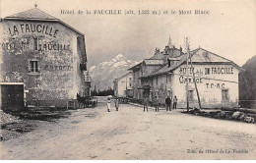
[[(167, 59), (162, 58), (160, 69), (148, 75), (142, 75), (134, 81), (140, 81), (141, 96), (149, 96), (151, 100), (157, 96), (161, 104), (164, 104), (166, 96), (178, 99), (178, 107), (185, 108), (186, 82), (188, 82), (188, 99), (190, 107), (198, 107), (198, 99), (195, 84), (199, 90), (203, 108), (233, 107), (238, 105), (238, 74), (242, 70), (232, 61), (203, 48), (191, 51), (187, 81), (186, 61), (187, 54), (173, 55)], [(164, 51), (163, 51), (164, 53)], [(164, 54), (163, 54), (164, 55)], [(138, 68), (134, 73), (141, 70)], [(193, 80), (193, 71), (195, 80)]]

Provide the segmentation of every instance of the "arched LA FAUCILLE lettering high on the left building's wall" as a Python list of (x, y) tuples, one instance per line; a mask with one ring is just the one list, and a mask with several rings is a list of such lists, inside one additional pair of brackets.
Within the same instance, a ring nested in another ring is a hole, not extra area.
[(9, 33), (11, 36), (18, 35), (21, 33), (42, 33), (56, 37), (58, 29), (54, 27), (48, 27), (41, 24), (21, 24), (19, 26), (8, 27)]

